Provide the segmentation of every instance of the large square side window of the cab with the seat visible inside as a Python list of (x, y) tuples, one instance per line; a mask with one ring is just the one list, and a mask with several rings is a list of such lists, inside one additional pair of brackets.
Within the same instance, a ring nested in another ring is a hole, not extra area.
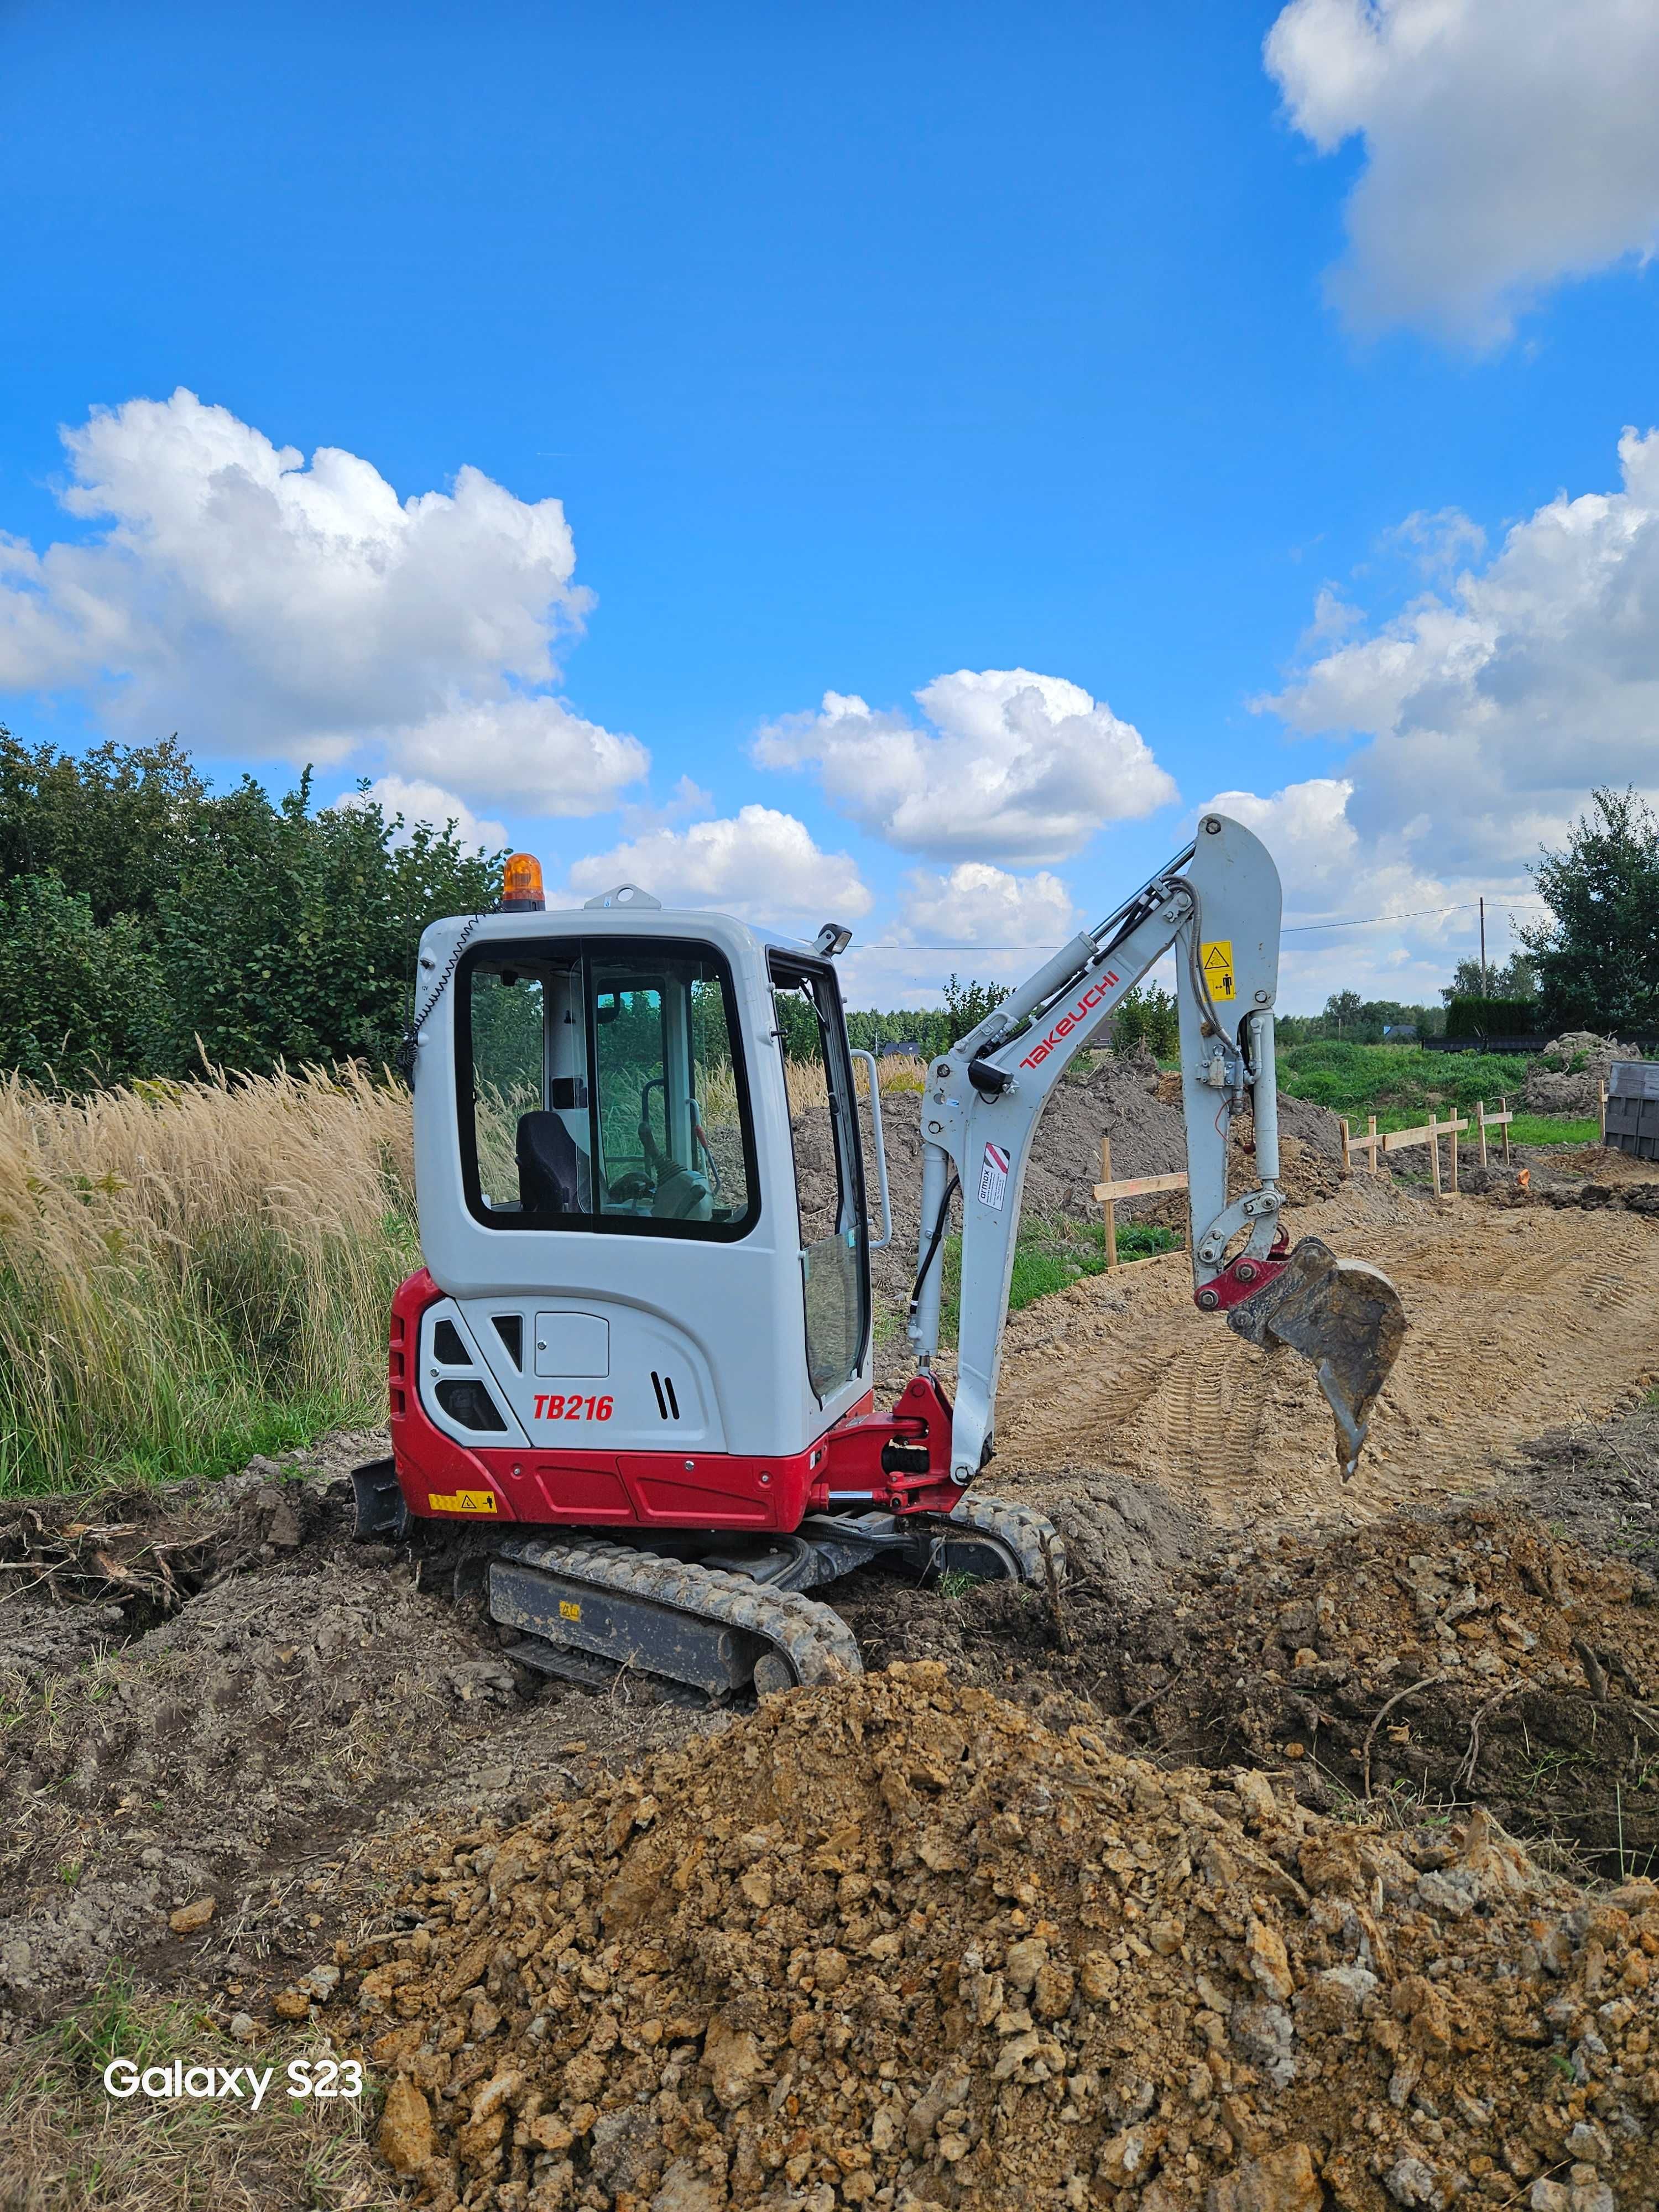
[(480, 1221), (714, 1239), (754, 1225), (748, 1086), (712, 947), (489, 947), (465, 980), (460, 1141)]

